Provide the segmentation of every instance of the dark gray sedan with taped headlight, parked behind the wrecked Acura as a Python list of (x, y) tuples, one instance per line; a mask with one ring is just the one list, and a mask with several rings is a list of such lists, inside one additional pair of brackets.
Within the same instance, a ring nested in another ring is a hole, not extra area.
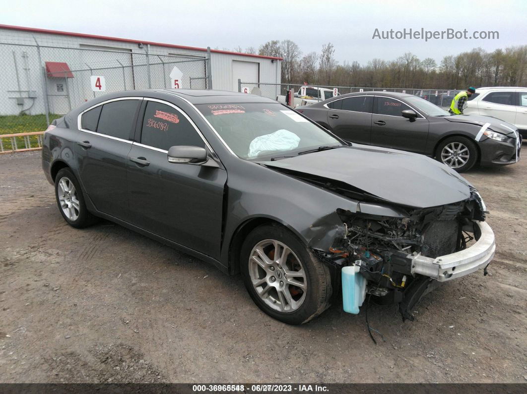
[(350, 142), (424, 154), (458, 172), (520, 158), (514, 125), (489, 116), (451, 116), (409, 94), (351, 93), (296, 110)]

